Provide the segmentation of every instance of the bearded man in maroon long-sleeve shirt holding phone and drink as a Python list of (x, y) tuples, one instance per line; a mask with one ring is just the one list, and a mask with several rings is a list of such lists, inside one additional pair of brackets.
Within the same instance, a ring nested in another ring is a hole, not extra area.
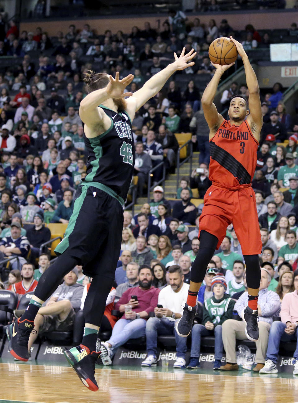
[(146, 322), (149, 312), (154, 312), (157, 307), (159, 289), (152, 286), (153, 272), (150, 266), (143, 264), (139, 268), (139, 286), (126, 290), (115, 309), (121, 313), (127, 311), (126, 306), (131, 306), (131, 312), (125, 312), (116, 322), (110, 340), (101, 343), (101, 361), (103, 365), (111, 365), (112, 357), (119, 346), (129, 339), (137, 339), (145, 336)]

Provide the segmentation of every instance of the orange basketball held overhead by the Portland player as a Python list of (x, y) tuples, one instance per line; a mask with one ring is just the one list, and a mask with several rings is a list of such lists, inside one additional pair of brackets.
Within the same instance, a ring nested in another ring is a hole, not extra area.
[(224, 36), (211, 42), (208, 53), (211, 62), (221, 66), (233, 63), (238, 56), (234, 42)]

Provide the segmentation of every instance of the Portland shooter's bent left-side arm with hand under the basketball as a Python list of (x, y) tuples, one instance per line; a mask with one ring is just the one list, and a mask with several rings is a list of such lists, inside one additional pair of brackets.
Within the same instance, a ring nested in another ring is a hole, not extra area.
[(224, 118), (217, 112), (215, 104), (213, 104), (213, 100), (217, 91), (217, 87), (221, 76), (224, 72), (229, 69), (229, 67), (233, 66), (235, 63), (231, 64), (224, 64), (221, 66), (220, 64), (211, 64), (215, 67), (216, 71), (209, 81), (205, 91), (203, 92), (201, 98), (201, 104), (204, 111), (204, 116), (206, 122), (208, 123), (210, 129), (210, 137), (213, 137), (214, 133), (217, 131), (221, 123), (223, 122)]

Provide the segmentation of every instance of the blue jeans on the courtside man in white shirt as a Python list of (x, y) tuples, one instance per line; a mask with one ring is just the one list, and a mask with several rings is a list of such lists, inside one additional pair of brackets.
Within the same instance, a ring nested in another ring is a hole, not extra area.
[(187, 338), (181, 337), (175, 330), (177, 320), (168, 320), (167, 318), (149, 318), (146, 324), (146, 339), (148, 355), (157, 355), (157, 334), (173, 334), (176, 339), (177, 357), (185, 358), (187, 351)]

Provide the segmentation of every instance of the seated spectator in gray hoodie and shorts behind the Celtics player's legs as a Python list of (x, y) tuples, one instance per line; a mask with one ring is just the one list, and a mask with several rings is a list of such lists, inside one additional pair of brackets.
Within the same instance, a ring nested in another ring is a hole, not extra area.
[(53, 330), (68, 331), (72, 328), (75, 312), (80, 309), (84, 287), (77, 283), (79, 277), (77, 267), (74, 267), (66, 276), (64, 282), (48, 298), (39, 309), (34, 319), (36, 334), (31, 332), (28, 343), (30, 349), (39, 332)]

